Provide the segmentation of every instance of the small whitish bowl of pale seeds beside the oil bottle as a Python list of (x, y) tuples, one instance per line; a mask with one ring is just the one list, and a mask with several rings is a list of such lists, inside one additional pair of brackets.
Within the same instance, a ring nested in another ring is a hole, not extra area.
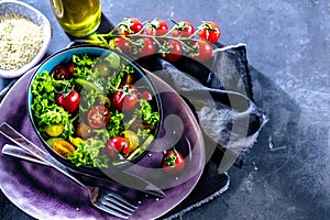
[(0, 77), (15, 78), (45, 55), (52, 38), (47, 18), (21, 1), (0, 1)]

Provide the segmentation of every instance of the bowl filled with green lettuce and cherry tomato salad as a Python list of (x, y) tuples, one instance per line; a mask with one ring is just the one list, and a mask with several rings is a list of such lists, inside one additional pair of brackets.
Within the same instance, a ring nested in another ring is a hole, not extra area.
[(35, 70), (28, 94), (30, 119), (47, 151), (82, 172), (136, 163), (158, 132), (155, 88), (116, 51), (63, 50)]

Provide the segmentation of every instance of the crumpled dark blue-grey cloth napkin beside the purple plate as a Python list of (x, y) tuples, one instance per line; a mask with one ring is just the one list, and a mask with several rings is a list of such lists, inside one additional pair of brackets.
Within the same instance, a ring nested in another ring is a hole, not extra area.
[(168, 63), (160, 56), (140, 58), (142, 67), (169, 84), (188, 103), (205, 136), (207, 164), (193, 193), (165, 217), (198, 207), (227, 189), (227, 170), (241, 164), (266, 122), (253, 102), (244, 44), (215, 50), (200, 64), (189, 57)]

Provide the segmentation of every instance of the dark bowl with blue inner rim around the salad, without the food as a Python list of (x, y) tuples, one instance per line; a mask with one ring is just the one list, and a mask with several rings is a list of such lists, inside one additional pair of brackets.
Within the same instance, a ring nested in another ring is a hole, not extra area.
[[(59, 65), (59, 64), (65, 64), (67, 62), (69, 62), (73, 57), (73, 55), (82, 55), (82, 54), (88, 54), (90, 56), (94, 57), (105, 57), (107, 55), (109, 55), (110, 53), (116, 53), (121, 61), (124, 61), (127, 65), (130, 65), (133, 67), (135, 76), (138, 76), (138, 81), (139, 84), (144, 87), (146, 87), (151, 94), (153, 95), (153, 100), (152, 100), (152, 107), (155, 111), (160, 112), (160, 121), (156, 125), (156, 128), (154, 128), (154, 136), (155, 139), (158, 135), (158, 130), (161, 127), (161, 121), (162, 121), (162, 108), (161, 108), (161, 101), (160, 101), (160, 96), (157, 95), (157, 91), (155, 89), (155, 87), (153, 86), (152, 81), (150, 80), (150, 78), (145, 75), (144, 70), (136, 65), (134, 62), (129, 61), (128, 57), (125, 57), (123, 54), (116, 52), (116, 51), (111, 51), (108, 48), (103, 48), (103, 47), (98, 47), (98, 46), (75, 46), (75, 47), (69, 47), (69, 48), (65, 48), (63, 51), (59, 51), (53, 55), (51, 55), (50, 57), (47, 57), (35, 70), (33, 77), (31, 78), (31, 81), (29, 82), (29, 87), (28, 87), (28, 112), (29, 112), (29, 117), (30, 120), (33, 124), (33, 128), (37, 134), (37, 136), (40, 138), (41, 142), (44, 144), (45, 148), (50, 152), (50, 154), (55, 157), (58, 162), (61, 162), (62, 164), (64, 164), (65, 166), (75, 169), (77, 172), (82, 172), (86, 174), (91, 174), (91, 175), (96, 175), (96, 176), (105, 176), (105, 173), (111, 173), (112, 170), (123, 170), (128, 167), (130, 167), (131, 165), (136, 164), (139, 161), (141, 161), (146, 154), (147, 152), (151, 150), (151, 147), (153, 146), (153, 144), (155, 143), (154, 141), (151, 142), (146, 148), (143, 151), (143, 153), (139, 154), (136, 157), (134, 157), (131, 161), (121, 161), (120, 163), (112, 163), (109, 164), (108, 168), (99, 168), (99, 167), (94, 167), (94, 166), (87, 166), (87, 165), (81, 165), (81, 166), (76, 166), (74, 165), (69, 160), (67, 160), (66, 157), (62, 156), (59, 153), (55, 152), (52, 146), (47, 143), (47, 139), (50, 139), (51, 136), (47, 136), (44, 134), (44, 132), (41, 132), (38, 127), (37, 127), (37, 121), (36, 121), (36, 117), (34, 116), (33, 110), (31, 109), (31, 105), (33, 102), (34, 96), (32, 94), (32, 84), (35, 80), (36, 76), (40, 75), (43, 72), (48, 72), (51, 73), (51, 70)], [(142, 82), (141, 82), (142, 81)], [(54, 91), (55, 92), (55, 91)], [(81, 101), (80, 101), (81, 102)], [(79, 113), (79, 117), (81, 117), (84, 114)], [(105, 153), (105, 152), (103, 152)]]

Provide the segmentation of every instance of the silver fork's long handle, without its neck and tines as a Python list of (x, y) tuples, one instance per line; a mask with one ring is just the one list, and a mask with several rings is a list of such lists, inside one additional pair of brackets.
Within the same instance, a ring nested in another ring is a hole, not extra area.
[(22, 148), (26, 150), (31, 154), (33, 154), (38, 160), (45, 162), (47, 165), (56, 168), (58, 172), (63, 173), (70, 179), (75, 180), (77, 184), (81, 185), (82, 187), (86, 187), (81, 182), (79, 182), (76, 177), (74, 177), (66, 166), (57, 162), (54, 157), (52, 157), (50, 154), (45, 153), (43, 150), (41, 150), (38, 146), (33, 144), (31, 141), (29, 141), (25, 136), (23, 136), (21, 133), (15, 131), (12, 127), (10, 127), (8, 123), (3, 122), (0, 127), (0, 132), (7, 136), (9, 140), (21, 146)]

